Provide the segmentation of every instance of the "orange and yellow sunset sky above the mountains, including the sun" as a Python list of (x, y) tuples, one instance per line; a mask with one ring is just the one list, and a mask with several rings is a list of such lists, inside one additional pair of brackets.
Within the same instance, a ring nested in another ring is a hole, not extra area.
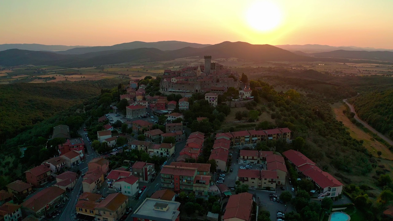
[(1, 0), (0, 44), (131, 41), (393, 49), (393, 0)]

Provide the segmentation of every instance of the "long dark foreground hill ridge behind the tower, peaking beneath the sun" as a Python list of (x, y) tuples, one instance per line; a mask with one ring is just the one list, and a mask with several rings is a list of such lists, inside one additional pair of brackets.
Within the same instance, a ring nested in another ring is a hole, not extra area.
[(211, 55), (214, 58), (237, 57), (251, 61), (315, 61), (313, 57), (296, 55), (268, 44), (257, 45), (246, 42), (222, 42), (204, 48), (185, 47), (178, 50), (162, 51), (157, 48), (137, 48), (133, 50), (110, 50), (81, 55), (58, 54), (11, 49), (0, 52), (0, 65), (52, 64), (64, 67), (97, 66), (116, 64), (140, 59), (165, 61), (181, 57)]

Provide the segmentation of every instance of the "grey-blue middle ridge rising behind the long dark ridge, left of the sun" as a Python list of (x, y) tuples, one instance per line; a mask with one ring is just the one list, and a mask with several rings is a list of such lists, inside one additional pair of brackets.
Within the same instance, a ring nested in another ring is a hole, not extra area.
[(158, 41), (158, 42), (143, 42), (143, 41), (133, 41), (122, 44), (115, 44), (112, 46), (94, 46), (88, 48), (72, 48), (70, 50), (55, 52), (59, 54), (84, 54), (89, 52), (102, 52), (108, 50), (130, 50), (136, 48), (157, 48), (162, 51), (166, 50), (177, 50), (185, 47), (192, 48), (203, 48), (211, 44), (197, 44), (189, 43), (184, 41)]

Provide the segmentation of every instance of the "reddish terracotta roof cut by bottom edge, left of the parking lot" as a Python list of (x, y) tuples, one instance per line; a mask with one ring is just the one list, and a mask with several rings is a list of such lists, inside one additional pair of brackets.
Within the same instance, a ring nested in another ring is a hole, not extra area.
[(222, 219), (225, 220), (236, 217), (241, 220), (249, 221), (251, 218), (252, 204), (253, 200), (251, 193), (231, 195), (226, 204), (226, 210)]

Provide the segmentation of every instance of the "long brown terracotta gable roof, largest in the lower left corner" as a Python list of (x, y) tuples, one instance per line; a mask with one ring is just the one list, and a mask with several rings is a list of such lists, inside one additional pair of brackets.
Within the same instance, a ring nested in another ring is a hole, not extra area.
[(42, 208), (46, 206), (46, 204), (50, 204), (51, 201), (65, 193), (65, 190), (57, 186), (50, 186), (44, 188), (40, 192), (36, 193), (26, 201), (22, 203), (22, 206), (33, 210), (34, 212), (38, 212)]

